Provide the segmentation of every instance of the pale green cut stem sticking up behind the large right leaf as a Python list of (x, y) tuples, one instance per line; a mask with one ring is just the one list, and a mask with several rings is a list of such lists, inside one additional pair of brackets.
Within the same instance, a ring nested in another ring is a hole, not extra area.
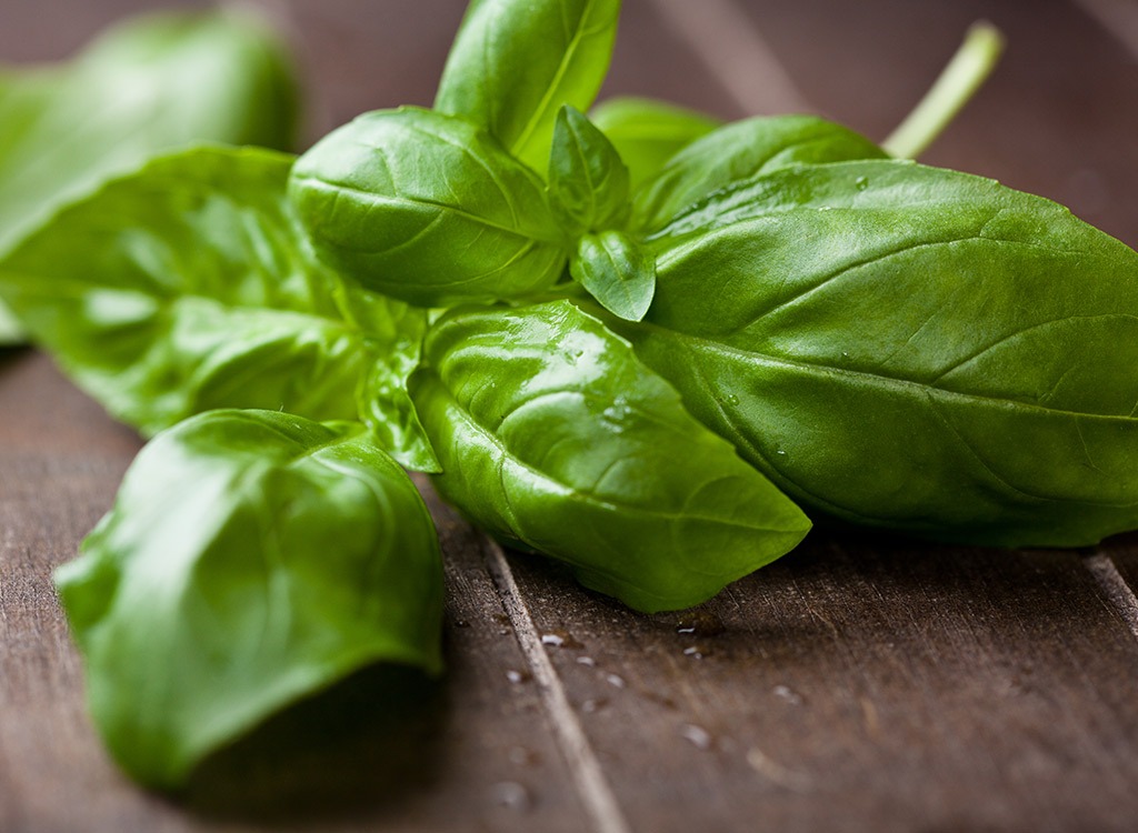
[(924, 152), (984, 83), (1003, 51), (998, 28), (984, 20), (972, 24), (940, 77), (882, 147), (902, 159)]

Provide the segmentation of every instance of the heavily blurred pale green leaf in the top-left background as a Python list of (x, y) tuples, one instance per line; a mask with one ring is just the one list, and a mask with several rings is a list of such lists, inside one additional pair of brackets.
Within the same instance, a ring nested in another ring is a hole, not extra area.
[(69, 64), (0, 72), (0, 249), (157, 150), (196, 140), (287, 148), (295, 126), (288, 59), (233, 10), (140, 18)]

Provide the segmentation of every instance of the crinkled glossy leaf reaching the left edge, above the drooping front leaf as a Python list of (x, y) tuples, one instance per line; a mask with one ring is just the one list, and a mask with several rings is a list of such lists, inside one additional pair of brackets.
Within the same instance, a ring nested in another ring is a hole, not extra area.
[(214, 407), (356, 419), (361, 379), (384, 362), (402, 372), (424, 313), (377, 299), (346, 315), (364, 302), (311, 251), (286, 199), (291, 160), (222, 148), (156, 158), (0, 261), (0, 297), (145, 434)]

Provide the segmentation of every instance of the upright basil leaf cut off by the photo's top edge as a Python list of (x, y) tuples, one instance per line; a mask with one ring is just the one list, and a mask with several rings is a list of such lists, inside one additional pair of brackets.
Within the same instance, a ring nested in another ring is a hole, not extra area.
[(435, 108), (485, 126), (544, 171), (558, 110), (587, 110), (609, 71), (620, 0), (473, 0)]

